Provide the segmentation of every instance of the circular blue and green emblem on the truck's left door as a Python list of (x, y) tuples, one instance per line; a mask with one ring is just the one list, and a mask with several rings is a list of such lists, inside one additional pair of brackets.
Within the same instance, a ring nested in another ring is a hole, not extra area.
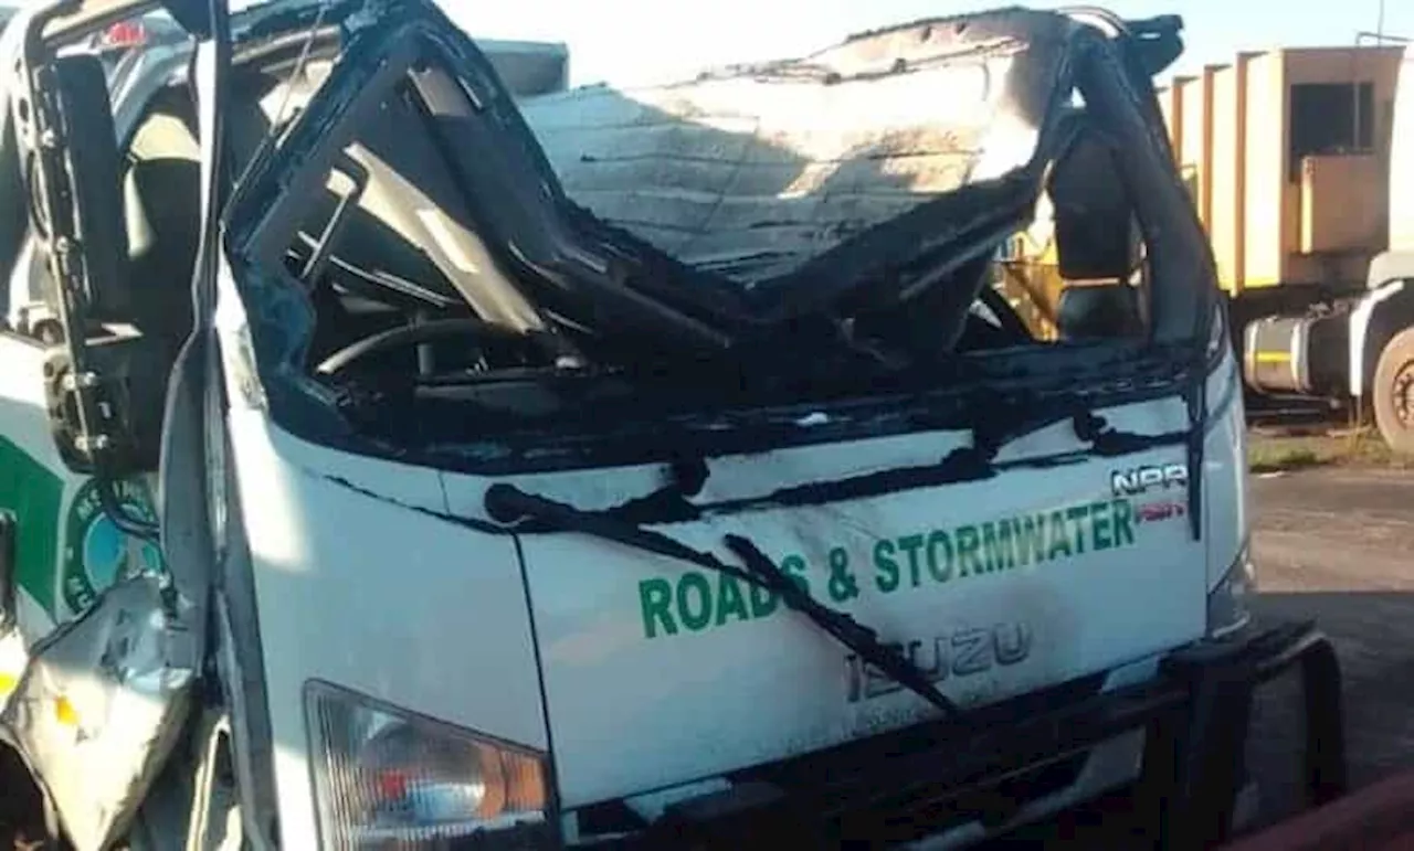
[[(115, 485), (117, 502), (126, 513), (144, 523), (156, 523), (153, 499), (141, 481)], [(163, 570), (161, 550), (150, 541), (124, 534), (103, 512), (98, 485), (89, 479), (69, 505), (64, 530), (64, 564), (59, 594), (71, 612), (93, 605), (99, 591), (119, 578)]]

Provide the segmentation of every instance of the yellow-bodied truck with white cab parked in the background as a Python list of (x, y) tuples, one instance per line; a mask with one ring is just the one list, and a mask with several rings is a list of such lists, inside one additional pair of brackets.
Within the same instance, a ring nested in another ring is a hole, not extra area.
[(1414, 452), (1411, 62), (1401, 44), (1254, 51), (1159, 90), (1246, 385), (1352, 403), (1400, 452)]

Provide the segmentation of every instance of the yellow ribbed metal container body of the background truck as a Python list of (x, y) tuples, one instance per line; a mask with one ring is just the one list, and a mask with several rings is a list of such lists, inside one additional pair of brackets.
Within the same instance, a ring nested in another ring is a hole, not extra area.
[(1159, 105), (1225, 290), (1363, 280), (1389, 243), (1398, 47), (1243, 52)]

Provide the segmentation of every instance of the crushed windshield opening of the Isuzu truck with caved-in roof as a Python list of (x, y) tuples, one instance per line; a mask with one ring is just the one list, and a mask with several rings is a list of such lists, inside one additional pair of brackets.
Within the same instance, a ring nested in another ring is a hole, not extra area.
[[(1208, 254), (1131, 99), (1147, 76), (1072, 18), (923, 21), (537, 95), (431, 4), (392, 6), (238, 45), (230, 259), (271, 404), (440, 442), (988, 370), (1063, 386), (1193, 335)], [(1092, 106), (1085, 62), (1113, 89)]]

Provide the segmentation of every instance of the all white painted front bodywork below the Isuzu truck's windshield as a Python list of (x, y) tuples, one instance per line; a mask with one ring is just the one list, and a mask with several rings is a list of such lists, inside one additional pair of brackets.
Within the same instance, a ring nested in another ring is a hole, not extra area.
[[(946, 693), (964, 703), (1109, 669), (1117, 670), (1107, 688), (1151, 676), (1159, 653), (1202, 638), (1206, 592), (1243, 543), (1244, 455), (1236, 382), (1230, 358), (1210, 380), (1210, 404), (1220, 416), (1206, 440), (1203, 543), (1195, 543), (1186, 517), (1178, 517), (1141, 529), (1140, 544), (1128, 550), (887, 599), (865, 589), (857, 605), (846, 608), (885, 638), (1025, 618), (1035, 629), (1031, 659), (1012, 670), (997, 669), (973, 688), (945, 684)], [(1104, 416), (1116, 427), (1140, 433), (1184, 423), (1178, 401)], [(557, 792), (568, 809), (930, 715), (906, 693), (874, 701), (867, 711), (847, 705), (844, 652), (796, 616), (645, 640), (638, 582), (680, 571), (659, 557), (554, 534), (523, 539), (522, 565), (510, 539), (414, 510), (479, 516), (486, 479), (304, 444), (255, 410), (232, 411), (229, 426), (267, 647), (281, 831), (288, 845), (305, 845), (315, 835), (301, 696), (311, 679), (492, 736), (553, 745)], [(701, 499), (936, 458), (960, 440), (936, 433), (721, 458), (711, 464)], [(1063, 427), (1056, 427), (1018, 442), (1010, 455), (1049, 455), (1072, 444)], [(1181, 452), (1155, 451), (1124, 462), (1172, 461), (1182, 461)], [(773, 556), (812, 551), (826, 541), (863, 547), (880, 536), (940, 523), (1107, 499), (1111, 466), (1093, 459), (981, 483), (662, 530), (701, 547), (740, 532)], [(518, 483), (594, 507), (642, 495), (658, 474), (600, 469), (527, 476)], [(861, 578), (870, 575), (861, 571)], [(1128, 735), (1097, 749), (1075, 786), (1036, 802), (1019, 818), (1133, 779), (1140, 745)], [(978, 830), (959, 828), (949, 834), (949, 844)]]

